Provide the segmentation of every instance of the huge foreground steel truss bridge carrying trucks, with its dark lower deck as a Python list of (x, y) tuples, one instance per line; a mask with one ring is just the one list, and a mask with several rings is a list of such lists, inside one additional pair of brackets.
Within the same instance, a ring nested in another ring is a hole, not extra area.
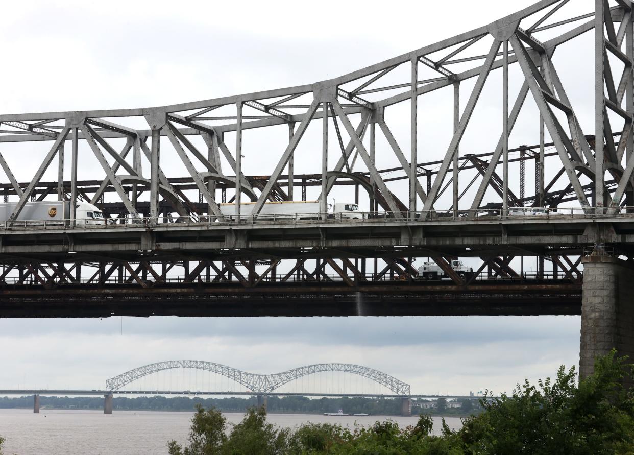
[[(0, 115), (0, 192), (16, 204), (0, 223), (0, 317), (578, 314), (583, 249), (634, 254), (631, 2), (578, 8), (543, 0), (314, 84)], [(594, 90), (574, 93), (571, 59), (595, 75)], [(501, 96), (488, 99), (490, 87)], [(418, 117), (434, 93), (451, 115), (446, 137), (434, 124), (446, 148), (429, 157)], [(498, 98), (500, 118), (489, 122), (499, 124), (498, 140), (483, 151), (465, 138)], [(510, 143), (531, 128), (533, 145)], [(277, 142), (243, 146), (258, 131)], [(12, 170), (23, 142), (43, 149), (29, 181)], [(270, 169), (245, 175), (243, 156), (257, 154)], [(295, 173), (302, 158), (312, 173)], [(174, 168), (186, 175), (166, 174)], [(329, 195), (346, 185), (365, 219), (327, 216)], [(260, 216), (266, 202), (306, 200), (307, 188), (320, 190), (313, 220)], [(71, 201), (67, 225), (20, 221), (38, 200)], [(75, 223), (77, 201), (112, 223)], [(224, 215), (223, 202), (235, 214)], [(417, 280), (413, 258), (436, 261), (448, 279)], [(462, 277), (455, 258), (480, 265)]]

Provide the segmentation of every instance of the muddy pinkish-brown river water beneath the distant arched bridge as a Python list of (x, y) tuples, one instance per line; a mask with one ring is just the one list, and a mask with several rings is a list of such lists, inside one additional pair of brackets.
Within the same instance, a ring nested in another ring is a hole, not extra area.
[[(243, 414), (226, 412), (230, 423), (238, 423)], [(191, 412), (161, 411), (65, 411), (42, 409), (0, 409), (0, 435), (6, 439), (5, 455), (159, 455), (167, 454), (168, 440), (186, 442)], [(315, 414), (268, 414), (268, 420), (283, 427), (306, 422), (337, 422), (351, 428), (392, 419), (403, 427), (414, 425), (417, 417), (328, 417)], [(450, 428), (460, 428), (459, 418), (446, 418)], [(441, 419), (434, 417), (439, 432)]]

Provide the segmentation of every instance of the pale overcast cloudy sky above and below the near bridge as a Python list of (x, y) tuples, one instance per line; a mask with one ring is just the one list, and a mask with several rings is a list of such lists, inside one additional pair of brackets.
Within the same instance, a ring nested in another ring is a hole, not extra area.
[[(579, 14), (592, 10), (590, 1), (573, 3)], [(4, 113), (146, 107), (307, 84), (474, 29), (528, 4), (11, 3), (0, 16), (0, 105)], [(592, 83), (592, 74), (567, 74), (579, 87)], [(419, 128), (429, 135), (422, 148), (436, 143), (434, 125), (425, 123), (437, 116), (433, 106), (420, 107)], [(498, 107), (485, 108), (501, 119)], [(406, 114), (391, 127), (406, 135), (408, 122)], [(486, 115), (476, 122), (481, 136), (465, 141), (477, 145), (477, 152), (491, 151), (479, 147), (495, 144), (499, 131), (489, 135)], [(511, 146), (537, 143), (536, 127), (533, 122), (518, 129)], [(438, 142), (446, 150), (446, 141)], [(15, 150), (20, 147), (26, 146)], [(444, 150), (427, 147), (425, 154), (439, 159)], [(249, 155), (246, 146), (245, 154), (253, 172), (271, 161), (266, 154)], [(7, 159), (18, 180), (30, 179), (34, 164), (23, 154)], [(297, 166), (311, 165), (300, 160)], [(136, 366), (197, 359), (257, 373), (354, 363), (392, 374), (414, 393), (465, 394), (511, 390), (524, 378), (553, 376), (560, 364), (578, 364), (579, 318), (0, 319), (0, 346), (0, 388), (101, 388), (105, 379)]]

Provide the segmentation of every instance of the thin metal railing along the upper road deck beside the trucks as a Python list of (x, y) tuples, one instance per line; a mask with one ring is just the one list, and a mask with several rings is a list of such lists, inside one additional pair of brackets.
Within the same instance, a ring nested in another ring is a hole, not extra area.
[(0, 221), (0, 230), (59, 230), (99, 229), (120, 227), (184, 227), (191, 225), (310, 225), (314, 223), (385, 223), (394, 221), (475, 221), (475, 220), (566, 220), (594, 218), (634, 218), (634, 207), (619, 207), (615, 213), (609, 208), (511, 208), (462, 211), (399, 211), (226, 215), (157, 216), (155, 218), (91, 218), (86, 220), (14, 220)]

